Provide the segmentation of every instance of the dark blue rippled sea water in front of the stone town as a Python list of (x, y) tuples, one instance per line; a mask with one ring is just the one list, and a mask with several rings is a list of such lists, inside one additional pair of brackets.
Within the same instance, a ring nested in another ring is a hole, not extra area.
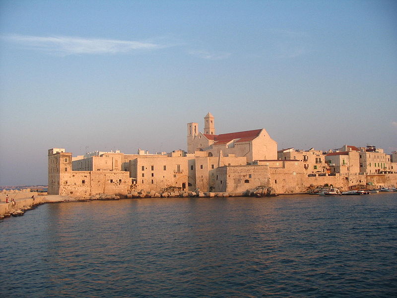
[(47, 204), (0, 223), (1, 297), (397, 297), (397, 193)]

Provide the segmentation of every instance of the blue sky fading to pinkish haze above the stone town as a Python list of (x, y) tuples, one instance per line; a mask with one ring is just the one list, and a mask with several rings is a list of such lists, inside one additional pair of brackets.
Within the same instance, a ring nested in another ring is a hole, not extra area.
[(47, 184), (51, 148), (186, 150), (208, 112), (397, 150), (397, 1), (0, 0), (0, 185)]

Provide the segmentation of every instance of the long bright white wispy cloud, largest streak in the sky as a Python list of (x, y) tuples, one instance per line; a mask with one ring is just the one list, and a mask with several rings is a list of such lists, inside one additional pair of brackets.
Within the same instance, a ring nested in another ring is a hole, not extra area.
[(6, 36), (5, 38), (9, 41), (22, 44), (28, 48), (59, 55), (116, 54), (129, 53), (139, 50), (154, 50), (166, 47), (165, 45), (152, 42), (68, 36), (41, 37), (29, 35), (10, 35)]

